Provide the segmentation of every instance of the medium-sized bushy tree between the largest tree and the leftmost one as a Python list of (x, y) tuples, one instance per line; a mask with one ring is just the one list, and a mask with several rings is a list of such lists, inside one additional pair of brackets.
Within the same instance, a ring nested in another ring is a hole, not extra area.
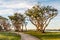
[[(15, 13), (13, 16), (9, 16), (12, 21), (12, 24), (15, 26), (15, 31), (23, 31), (23, 24), (25, 17), (20, 13)], [(22, 29), (21, 29), (22, 28)]]

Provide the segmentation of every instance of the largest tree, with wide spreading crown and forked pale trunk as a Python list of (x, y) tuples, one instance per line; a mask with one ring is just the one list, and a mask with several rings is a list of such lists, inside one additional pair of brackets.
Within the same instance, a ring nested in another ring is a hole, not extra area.
[(58, 10), (51, 6), (35, 5), (31, 9), (28, 9), (25, 14), (38, 31), (44, 32), (51, 19), (57, 16)]

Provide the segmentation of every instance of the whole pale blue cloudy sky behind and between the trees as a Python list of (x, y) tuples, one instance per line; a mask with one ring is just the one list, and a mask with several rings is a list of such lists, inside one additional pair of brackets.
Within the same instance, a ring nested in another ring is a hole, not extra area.
[[(7, 18), (15, 12), (23, 14), (28, 8), (37, 3), (58, 9), (58, 15), (51, 20), (46, 29), (60, 29), (60, 0), (0, 0), (0, 16)], [(27, 24), (27, 27), (30, 29), (35, 28), (30, 22)]]

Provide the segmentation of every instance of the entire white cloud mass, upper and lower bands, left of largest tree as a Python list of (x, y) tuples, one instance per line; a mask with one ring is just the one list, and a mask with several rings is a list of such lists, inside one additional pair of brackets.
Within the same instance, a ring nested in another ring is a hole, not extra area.
[[(0, 1), (0, 8), (2, 8), (2, 10), (0, 9), (0, 15), (8, 16), (8, 15), (12, 15), (14, 12), (23, 13), (25, 8), (31, 8), (31, 7), (32, 7), (32, 5), (28, 4), (26, 2), (8, 4), (8, 3)], [(19, 10), (17, 10), (17, 9), (19, 9)], [(21, 9), (23, 9), (23, 10), (21, 10)]]

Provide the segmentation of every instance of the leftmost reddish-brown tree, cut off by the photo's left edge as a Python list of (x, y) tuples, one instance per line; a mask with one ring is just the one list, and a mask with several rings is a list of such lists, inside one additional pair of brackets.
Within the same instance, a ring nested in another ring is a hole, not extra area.
[(8, 31), (10, 29), (9, 25), (10, 24), (8, 23), (8, 19), (0, 16), (0, 26), (2, 27), (2, 29), (4, 28), (4, 30)]

